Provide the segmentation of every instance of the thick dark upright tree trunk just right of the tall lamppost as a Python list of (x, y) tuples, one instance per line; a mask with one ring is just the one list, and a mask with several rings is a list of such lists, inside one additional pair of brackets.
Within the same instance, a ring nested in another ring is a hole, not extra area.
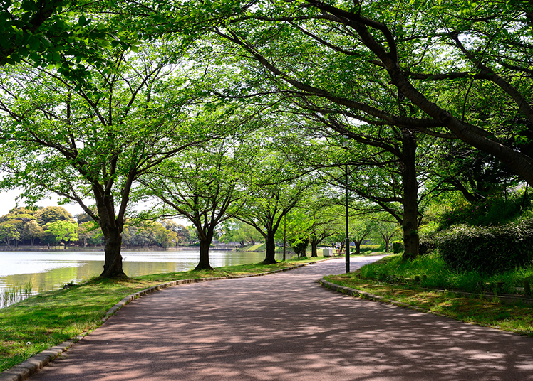
[(416, 179), (416, 140), (404, 130), (403, 139), (403, 259), (418, 257), (418, 181)]

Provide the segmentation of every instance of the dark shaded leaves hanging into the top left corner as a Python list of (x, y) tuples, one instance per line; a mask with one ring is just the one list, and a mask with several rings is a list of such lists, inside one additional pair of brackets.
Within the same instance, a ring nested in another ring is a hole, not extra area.
[(113, 65), (105, 50), (136, 50), (133, 33), (119, 26), (123, 16), (113, 16), (110, 5), (86, 0), (4, 1), (0, 66), (53, 65), (63, 77), (87, 84), (90, 68)]

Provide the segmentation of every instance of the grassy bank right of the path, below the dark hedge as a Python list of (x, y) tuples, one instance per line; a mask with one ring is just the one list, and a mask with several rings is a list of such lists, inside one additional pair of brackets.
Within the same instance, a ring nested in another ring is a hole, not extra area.
[[(429, 255), (414, 262), (402, 262), (400, 256), (384, 258), (352, 274), (330, 275), (328, 281), (382, 296), (388, 301), (401, 301), (426, 311), (440, 313), (460, 321), (513, 331), (533, 336), (533, 307), (506, 305), (479, 297), (465, 297), (453, 291), (480, 294), (485, 291), (523, 294), (522, 279), (533, 270), (483, 276), (477, 273), (457, 273), (441, 260)], [(361, 278), (360, 278), (361, 276)], [(420, 277), (416, 282), (415, 277)], [(503, 285), (502, 285), (503, 282)], [(499, 287), (496, 289), (496, 287)], [(441, 292), (432, 290), (445, 289)]]

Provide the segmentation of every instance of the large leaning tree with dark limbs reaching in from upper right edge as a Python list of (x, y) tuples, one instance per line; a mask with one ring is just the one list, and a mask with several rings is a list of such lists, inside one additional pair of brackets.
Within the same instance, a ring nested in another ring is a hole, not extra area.
[[(532, 184), (532, 157), (498, 139), (497, 124), (490, 118), (479, 120), (465, 112), (475, 94), (491, 104), (491, 115), (519, 114), (512, 132), (529, 139), (522, 132), (529, 132), (527, 123), (533, 122), (527, 101), (530, 52), (521, 38), (532, 23), (531, 4), (505, 4), (502, 12), (497, 3), (471, 6), (455, 1), (437, 6), (388, 1), (308, 0), (289, 6), (274, 0), (260, 7), (237, 3), (229, 20), (215, 31), (278, 79), (278, 89), (288, 85), (299, 97), (348, 109), (368, 124), (461, 139)], [(238, 5), (244, 11), (235, 11)], [(312, 64), (316, 62), (324, 64)], [(461, 85), (462, 104), (442, 96), (446, 86)], [(381, 90), (374, 92), (373, 87)], [(381, 99), (390, 93), (412, 107), (414, 115), (401, 109), (391, 112), (390, 102)], [(507, 97), (505, 106), (490, 102), (500, 93)]]

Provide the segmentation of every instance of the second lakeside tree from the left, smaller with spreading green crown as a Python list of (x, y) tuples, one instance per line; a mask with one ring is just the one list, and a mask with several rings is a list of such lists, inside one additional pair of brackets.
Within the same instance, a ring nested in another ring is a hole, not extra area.
[(215, 228), (231, 217), (241, 197), (237, 179), (252, 151), (239, 141), (220, 140), (198, 146), (167, 161), (141, 180), (142, 193), (159, 198), (163, 215), (180, 215), (196, 227), (200, 259), (196, 270), (209, 269), (209, 247)]

